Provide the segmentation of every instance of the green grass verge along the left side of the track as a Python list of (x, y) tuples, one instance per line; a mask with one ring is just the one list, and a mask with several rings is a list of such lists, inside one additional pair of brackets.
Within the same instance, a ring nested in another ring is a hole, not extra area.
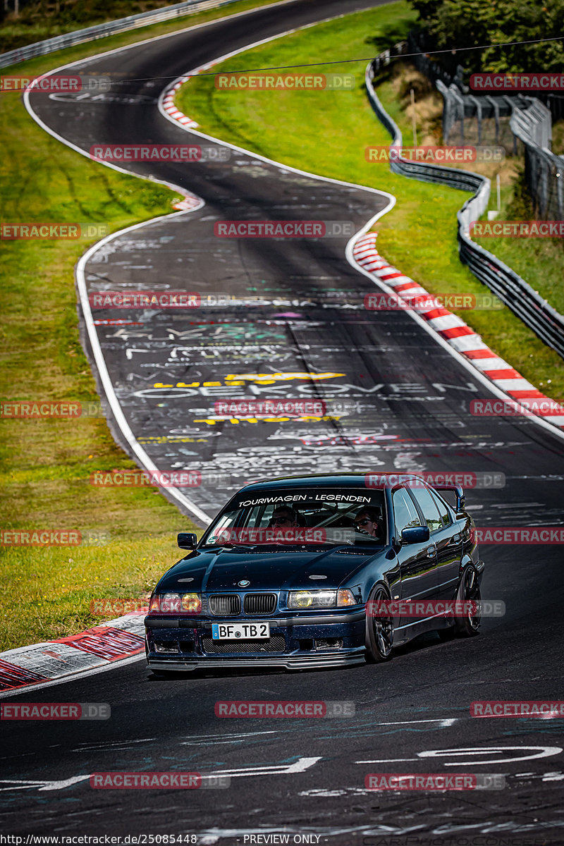
[[(233, 4), (228, 11), (257, 5)], [(44, 73), (223, 14), (193, 15), (74, 47), (21, 64), (18, 71)], [(172, 211), (172, 190), (116, 173), (63, 146), (30, 118), (19, 95), (0, 96), (0, 116), (3, 221), (103, 222), (116, 231)], [(74, 291), (74, 264), (87, 245), (0, 242), (0, 399), (97, 399), (79, 344)], [(103, 418), (0, 418), (1, 528), (110, 536), (100, 547), (0, 546), (0, 650), (100, 624), (104, 618), (90, 613), (93, 600), (144, 596), (180, 557), (176, 532), (194, 526), (156, 489), (89, 484), (92, 470), (133, 467)]]

